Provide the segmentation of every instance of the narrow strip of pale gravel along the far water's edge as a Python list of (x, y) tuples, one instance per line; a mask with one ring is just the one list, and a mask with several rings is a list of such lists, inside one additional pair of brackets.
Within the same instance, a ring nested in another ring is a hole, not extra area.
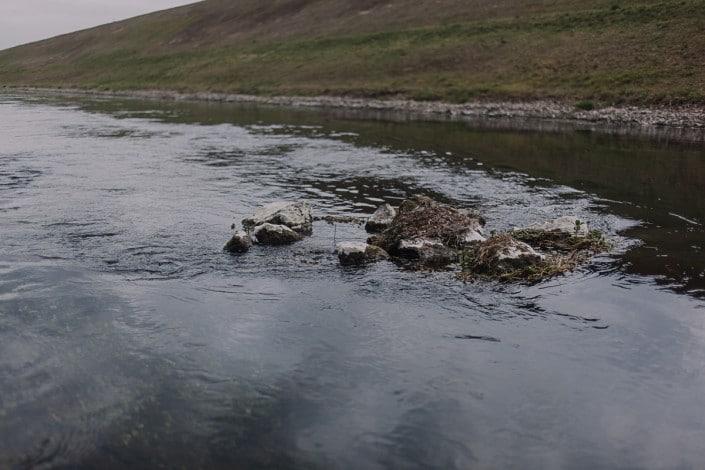
[[(705, 106), (605, 107), (580, 110), (558, 101), (465, 104), (420, 102), (403, 99), (367, 99), (335, 96), (256, 96), (225, 93), (180, 93), (175, 91), (99, 91), (57, 88), (5, 88), (20, 93), (48, 93), (95, 97), (136, 98), (169, 101), (250, 103), (296, 108), (325, 108), (402, 115), (405, 119), (495, 121), (493, 127), (521, 127), (552, 130), (564, 127), (617, 134), (647, 134), (674, 140), (705, 142)], [(2, 91), (2, 90), (0, 90)], [(389, 116), (386, 116), (389, 117)], [(548, 125), (547, 125), (548, 124)]]

